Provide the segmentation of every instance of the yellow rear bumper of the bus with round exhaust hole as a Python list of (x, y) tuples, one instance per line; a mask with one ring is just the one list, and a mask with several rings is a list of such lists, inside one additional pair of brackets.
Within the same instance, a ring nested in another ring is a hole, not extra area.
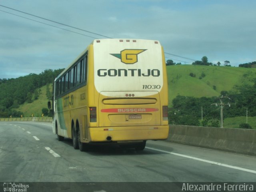
[(91, 142), (122, 142), (141, 140), (164, 140), (168, 138), (169, 125), (126, 126), (89, 128)]

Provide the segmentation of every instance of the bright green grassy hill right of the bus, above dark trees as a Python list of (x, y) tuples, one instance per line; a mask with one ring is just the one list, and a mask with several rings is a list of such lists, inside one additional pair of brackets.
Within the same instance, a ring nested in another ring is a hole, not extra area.
[[(195, 74), (195, 77), (190, 76), (190, 73)], [(234, 85), (253, 84), (252, 78), (256, 77), (256, 68), (173, 65), (167, 66), (167, 75), (171, 107), (172, 100), (177, 95), (198, 98), (220, 96), (221, 91), (230, 91)]]

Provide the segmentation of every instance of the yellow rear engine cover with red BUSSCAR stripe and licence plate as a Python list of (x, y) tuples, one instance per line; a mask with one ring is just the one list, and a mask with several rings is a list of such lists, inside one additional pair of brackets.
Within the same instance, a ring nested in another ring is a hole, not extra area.
[[(126, 98), (126, 94), (134, 98)], [(111, 92), (100, 93), (99, 126), (151, 126), (160, 125), (160, 96), (157, 91), (153, 95), (140, 97), (143, 92)], [(149, 95), (152, 93), (148, 93)], [(118, 97), (116, 95), (119, 95)]]

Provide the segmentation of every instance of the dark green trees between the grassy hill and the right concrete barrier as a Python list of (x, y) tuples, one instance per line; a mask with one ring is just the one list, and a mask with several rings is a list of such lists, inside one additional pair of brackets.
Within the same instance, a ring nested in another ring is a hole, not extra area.
[[(256, 116), (256, 79), (254, 85), (235, 86), (231, 93), (224, 90), (220, 95), (231, 99), (226, 101), (231, 106), (223, 108), (224, 118), (246, 116), (246, 109), (248, 116)], [(212, 105), (216, 102), (219, 102), (218, 97), (177, 96), (172, 100), (173, 107), (169, 110), (169, 123), (199, 126), (203, 108), (202, 125), (219, 127), (220, 107)]]

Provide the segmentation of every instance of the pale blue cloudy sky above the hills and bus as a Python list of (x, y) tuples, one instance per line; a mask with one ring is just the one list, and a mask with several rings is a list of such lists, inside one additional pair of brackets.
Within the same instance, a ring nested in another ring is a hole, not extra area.
[(159, 40), (176, 63), (253, 62), (255, 8), (255, 0), (1, 0), (0, 78), (66, 68), (106, 37)]

